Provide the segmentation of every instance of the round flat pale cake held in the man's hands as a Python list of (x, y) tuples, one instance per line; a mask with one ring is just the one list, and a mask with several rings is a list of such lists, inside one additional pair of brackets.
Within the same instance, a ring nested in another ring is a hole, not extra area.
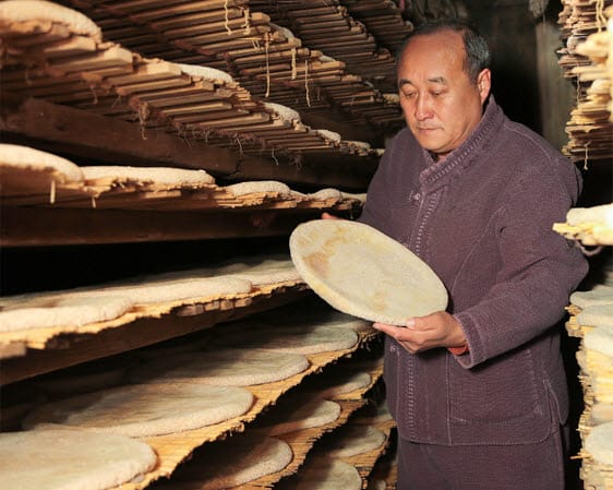
[(291, 260), (330, 306), (372, 322), (405, 325), (447, 307), (441, 279), (405, 246), (371, 226), (315, 219), (290, 236)]

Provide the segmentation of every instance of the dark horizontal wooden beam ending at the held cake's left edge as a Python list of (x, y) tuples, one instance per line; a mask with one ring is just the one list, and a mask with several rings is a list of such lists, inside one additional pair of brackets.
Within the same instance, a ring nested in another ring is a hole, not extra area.
[(284, 236), (322, 210), (127, 211), (0, 207), (0, 246), (127, 243)]

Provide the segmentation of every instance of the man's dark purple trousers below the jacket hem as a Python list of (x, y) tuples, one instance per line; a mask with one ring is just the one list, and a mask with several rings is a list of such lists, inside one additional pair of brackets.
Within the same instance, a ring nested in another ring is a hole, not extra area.
[(564, 490), (567, 430), (537, 444), (419, 444), (398, 438), (397, 490)]

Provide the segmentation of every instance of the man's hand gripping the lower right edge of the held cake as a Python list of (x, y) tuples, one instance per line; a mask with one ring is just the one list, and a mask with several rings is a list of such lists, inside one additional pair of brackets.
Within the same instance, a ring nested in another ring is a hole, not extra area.
[(406, 326), (385, 323), (375, 323), (373, 326), (394, 337), (411, 354), (434, 347), (458, 347), (466, 344), (466, 336), (459, 323), (445, 311), (410, 318), (407, 320)]

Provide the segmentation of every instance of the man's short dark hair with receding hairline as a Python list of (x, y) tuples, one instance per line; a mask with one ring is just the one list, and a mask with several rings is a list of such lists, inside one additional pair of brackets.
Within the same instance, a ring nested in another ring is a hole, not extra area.
[(438, 19), (435, 21), (426, 21), (418, 25), (413, 31), (405, 37), (400, 49), (398, 50), (398, 62), (402, 58), (405, 48), (416, 36), (434, 34), (442, 31), (453, 31), (461, 35), (464, 48), (466, 51), (465, 70), (469, 79), (477, 83), (477, 76), (484, 68), (490, 68), (491, 55), (488, 41), (479, 34), (477, 28), (459, 19)]

